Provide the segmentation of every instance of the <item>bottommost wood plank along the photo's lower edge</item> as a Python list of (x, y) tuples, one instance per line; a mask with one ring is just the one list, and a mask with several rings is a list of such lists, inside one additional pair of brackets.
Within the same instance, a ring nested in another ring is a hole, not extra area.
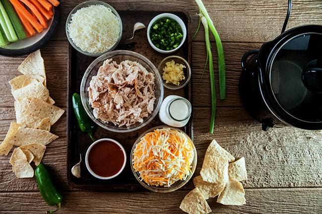
[[(322, 188), (296, 189), (246, 189), (245, 206), (224, 206), (215, 199), (208, 200), (213, 214), (293, 214), (321, 213)], [(172, 193), (103, 193), (103, 192), (66, 192), (63, 193), (64, 214), (184, 214), (179, 209), (187, 191)], [(148, 203), (153, 198), (153, 203)], [(2, 214), (32, 213), (43, 214), (53, 209), (43, 201), (39, 192), (0, 193)]]

